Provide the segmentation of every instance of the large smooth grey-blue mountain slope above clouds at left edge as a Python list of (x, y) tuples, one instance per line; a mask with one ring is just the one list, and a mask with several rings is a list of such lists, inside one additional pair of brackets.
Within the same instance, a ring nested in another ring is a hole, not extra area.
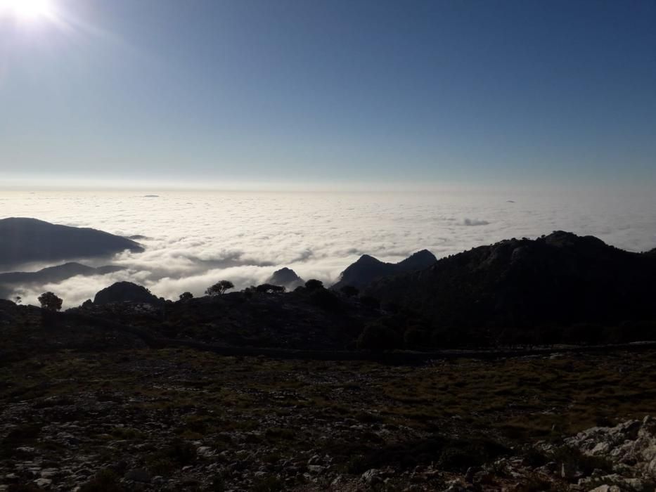
[(0, 238), (0, 267), (143, 251), (138, 243), (117, 235), (37, 219), (0, 219)]

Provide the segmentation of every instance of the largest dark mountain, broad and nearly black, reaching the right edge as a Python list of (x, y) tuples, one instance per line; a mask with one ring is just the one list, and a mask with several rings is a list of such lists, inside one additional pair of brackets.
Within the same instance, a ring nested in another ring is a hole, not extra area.
[(562, 231), (511, 239), (382, 278), (366, 293), (437, 327), (571, 325), (656, 318), (656, 257)]

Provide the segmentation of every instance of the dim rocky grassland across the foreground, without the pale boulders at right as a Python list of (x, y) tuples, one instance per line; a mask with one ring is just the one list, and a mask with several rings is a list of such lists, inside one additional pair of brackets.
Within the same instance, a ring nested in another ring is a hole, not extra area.
[(656, 413), (654, 352), (408, 367), (132, 345), (0, 365), (0, 491), (591, 490), (612, 464), (563, 439)]

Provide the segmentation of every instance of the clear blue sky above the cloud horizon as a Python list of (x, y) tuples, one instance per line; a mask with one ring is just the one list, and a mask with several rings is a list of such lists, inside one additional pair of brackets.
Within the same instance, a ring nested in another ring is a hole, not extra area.
[(6, 182), (656, 184), (654, 1), (50, 1)]

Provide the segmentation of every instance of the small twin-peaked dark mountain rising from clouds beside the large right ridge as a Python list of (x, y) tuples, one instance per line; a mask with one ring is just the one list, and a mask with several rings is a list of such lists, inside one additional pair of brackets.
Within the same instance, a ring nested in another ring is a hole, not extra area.
[(427, 268), (435, 261), (437, 258), (428, 250), (418, 251), (399, 263), (385, 263), (363, 254), (358, 261), (340, 273), (340, 280), (332, 288), (339, 290), (345, 285), (352, 285), (361, 289), (377, 278)]

